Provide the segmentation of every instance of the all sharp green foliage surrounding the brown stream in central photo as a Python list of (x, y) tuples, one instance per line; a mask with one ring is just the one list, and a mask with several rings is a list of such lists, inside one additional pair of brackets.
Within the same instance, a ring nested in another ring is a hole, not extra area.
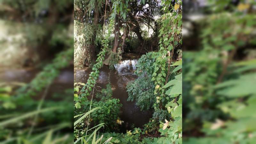
[[(79, 54), (77, 57), (92, 66), (87, 82), (74, 84), (74, 118), (79, 121), (74, 128), (75, 143), (182, 142), (181, 5), (180, 0), (75, 1), (75, 28), (78, 34), (75, 35), (75, 55), (78, 49), (84, 49), (81, 52), (89, 57), (80, 57)], [(86, 27), (90, 31), (87, 29), (85, 32)], [(143, 27), (148, 31), (143, 31)], [(95, 29), (102, 34), (96, 33)], [(133, 37), (135, 34), (137, 36)], [(139, 42), (138, 51), (148, 49), (144, 45), (147, 39), (152, 52), (145, 52), (138, 60), (135, 71), (138, 77), (126, 87), (129, 95), (127, 100), (135, 101), (141, 110), (152, 110), (154, 114), (143, 128), (118, 133), (118, 124), (122, 124), (118, 118), (122, 105), (118, 99), (112, 98), (111, 85), (101, 88), (100, 92), (94, 89), (103, 64), (113, 69), (113, 65), (121, 59), (126, 44), (135, 43), (132, 42), (134, 38)], [(157, 46), (153, 49), (154, 44)], [(93, 61), (97, 47), (100, 47), (100, 51)], [(84, 65), (83, 62), (76, 64)], [(104, 129), (103, 125), (106, 125)], [(94, 132), (91, 127), (95, 129)], [(101, 137), (93, 138), (96, 132)]]

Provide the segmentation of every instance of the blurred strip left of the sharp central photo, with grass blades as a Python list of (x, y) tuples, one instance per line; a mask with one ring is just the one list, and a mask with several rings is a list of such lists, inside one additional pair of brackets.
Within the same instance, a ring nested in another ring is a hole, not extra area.
[(73, 143), (73, 0), (0, 0), (0, 143)]

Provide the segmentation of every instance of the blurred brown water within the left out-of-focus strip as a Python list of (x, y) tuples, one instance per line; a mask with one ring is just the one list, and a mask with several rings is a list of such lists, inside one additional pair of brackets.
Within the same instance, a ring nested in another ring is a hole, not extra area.
[[(7, 85), (15, 85), (17, 83), (21, 83), (21, 84), (27, 84), (29, 82), (31, 82), (36, 75), (42, 71), (42, 69), (38, 69), (38, 68), (33, 68), (33, 67), (29, 67), (29, 68), (19, 68), (19, 69), (1, 69), (0, 70), (0, 84), (7, 84)], [(73, 66), (69, 67), (69, 68), (65, 68), (62, 69), (60, 71), (59, 76), (57, 76), (48, 92), (47, 92), (47, 96), (46, 99), (49, 100), (62, 100), (61, 99), (55, 99), (53, 98), (53, 94), (54, 93), (65, 93), (65, 90), (67, 89), (73, 89), (73, 84), (74, 82), (74, 72), (73, 72)], [(15, 88), (16, 89), (16, 88)], [(71, 91), (72, 92), (72, 91)], [(73, 93), (70, 93), (70, 95), (72, 95)], [(33, 97), (35, 100), (38, 100), (42, 97), (43, 95), (43, 91), (37, 93), (37, 95), (35, 97)], [(67, 93), (66, 93), (67, 95)], [(65, 99), (65, 98), (63, 98)], [(70, 108), (73, 108), (70, 107)]]

